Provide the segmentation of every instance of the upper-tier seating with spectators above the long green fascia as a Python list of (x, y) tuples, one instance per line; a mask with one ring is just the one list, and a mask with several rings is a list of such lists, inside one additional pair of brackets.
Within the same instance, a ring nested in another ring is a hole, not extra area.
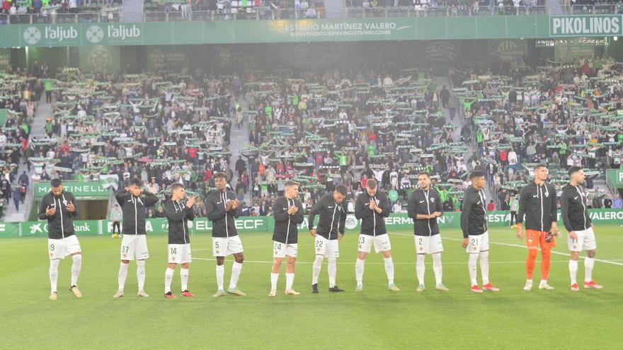
[[(341, 18), (418, 16), (525, 16), (548, 14), (622, 13), (617, 1), (567, 1), (545, 4), (542, 0), (346, 0), (336, 6)], [(0, 24), (120, 22), (118, 0), (24, 0), (0, 2)], [(333, 5), (335, 6), (335, 5)], [(325, 18), (324, 0), (148, 0), (142, 7), (146, 22), (213, 21), (245, 19)]]

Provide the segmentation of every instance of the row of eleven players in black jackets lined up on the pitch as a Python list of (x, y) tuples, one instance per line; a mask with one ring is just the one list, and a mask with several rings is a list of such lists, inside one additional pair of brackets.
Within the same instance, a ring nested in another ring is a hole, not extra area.
[[(546, 165), (537, 165), (534, 168), (535, 179), (520, 191), (520, 208), (518, 212), (517, 236), (526, 239), (528, 257), (526, 259), (527, 281), (525, 291), (532, 288), (532, 273), (535, 269), (538, 249), (542, 253), (542, 280), (539, 289), (551, 290), (554, 287), (547, 284), (551, 261), (551, 247), (554, 247), (554, 237), (560, 236), (556, 225), (556, 189), (547, 182), (548, 170)], [(584, 288), (600, 289), (592, 279), (593, 265), (595, 264), (594, 225), (588, 216), (586, 196), (581, 184), (584, 182), (583, 170), (571, 167), (568, 170), (569, 182), (561, 192), (561, 216), (568, 231), (568, 249), (571, 251), (569, 273), (571, 276), (571, 291), (578, 291), (576, 275), (578, 272), (578, 256), (583, 250), (585, 257)], [(462, 247), (469, 255), (468, 271), (470, 291), (499, 291), (488, 279), (488, 227), (486, 223), (486, 197), (484, 186), (485, 176), (479, 171), (469, 175), (471, 186), (464, 192), (461, 213), (461, 228), (463, 232)], [(234, 256), (232, 276), (227, 293), (236, 296), (245, 296), (237, 287), (238, 279), (244, 262), (244, 253), (241, 240), (236, 231), (234, 220), (239, 217), (239, 202), (234, 192), (227, 191), (227, 177), (224, 173), (215, 174), (216, 191), (207, 196), (207, 218), (212, 221), (212, 255), (216, 257), (217, 292), (214, 297), (224, 296), (224, 259), (228, 255)], [(430, 187), (430, 175), (418, 175), (419, 188), (408, 199), (408, 216), (413, 218), (413, 231), (416, 247), (416, 275), (418, 287), (416, 291), (425, 291), (425, 255), (433, 257), (433, 272), (435, 274), (435, 289), (449, 291), (442, 284), (441, 252), (443, 245), (437, 223), (442, 216), (442, 202), (438, 192)], [(78, 211), (75, 198), (70, 192), (63, 190), (60, 180), (51, 182), (50, 193), (43, 197), (39, 209), (39, 218), (48, 221), (48, 252), (50, 255), (50, 299), (57, 298), (57, 277), (59, 259), (72, 256), (72, 285), (69, 291), (77, 298), (82, 294), (77, 287), (81, 269), (81, 248), (74, 234), (72, 218)], [(336, 285), (337, 264), (339, 257), (338, 242), (343, 238), (347, 213), (343, 202), (346, 188), (336, 186), (335, 191), (321, 197), (312, 207), (309, 214), (308, 228), (314, 237), (316, 253), (311, 281), (311, 293), (319, 293), (318, 279), (321, 264), (326, 257), (328, 260), (328, 291), (343, 292)], [(124, 285), (127, 277), (127, 268), (130, 260), (137, 262), (137, 279), (139, 297), (147, 297), (144, 292), (145, 260), (149, 258), (145, 230), (145, 207), (158, 201), (156, 195), (144, 192), (142, 182), (133, 180), (131, 184), (120, 189), (116, 194), (123, 211), (123, 239), (121, 245), (121, 264), (118, 274), (119, 288), (113, 298), (124, 295)], [(270, 273), (269, 296), (276, 296), (280, 267), (286, 259), (286, 287), (285, 294), (298, 296), (300, 293), (292, 288), (295, 278), (295, 262), (297, 258), (298, 226), (304, 222), (302, 203), (298, 199), (299, 185), (288, 181), (285, 184), (283, 197), (273, 203), (273, 267)], [(184, 186), (176, 183), (171, 185), (171, 199), (165, 204), (165, 215), (168, 219), (168, 267), (165, 272), (165, 298), (176, 298), (171, 292), (171, 281), (178, 264), (181, 265), (181, 296), (192, 297), (188, 290), (188, 275), (192, 257), (190, 254), (190, 236), (188, 235), (188, 221), (195, 218), (193, 205), (195, 198), (186, 197)], [(363, 291), (363, 274), (365, 259), (375, 247), (375, 252), (381, 253), (384, 259), (384, 268), (387, 274), (390, 291), (400, 291), (394, 284), (394, 262), (391, 258), (391, 243), (385, 228), (384, 218), (389, 216), (389, 199), (384, 192), (377, 191), (377, 182), (368, 180), (365, 191), (355, 202), (355, 217), (361, 220), (360, 236), (358, 239), (358, 257), (355, 262), (355, 278), (357, 285), (355, 292)], [(319, 216), (319, 223), (314, 228), (314, 219)], [(525, 235), (523, 222), (525, 221)], [(476, 280), (477, 262), (480, 261), (482, 287)]]

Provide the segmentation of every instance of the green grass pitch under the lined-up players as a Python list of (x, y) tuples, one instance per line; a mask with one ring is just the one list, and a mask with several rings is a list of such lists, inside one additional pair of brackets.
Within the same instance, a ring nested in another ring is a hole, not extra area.
[[(569, 291), (566, 238), (552, 255), (549, 283), (555, 291), (522, 291), (525, 283), (524, 243), (515, 230), (491, 230), (491, 281), (499, 293), (468, 291), (467, 254), (459, 231), (444, 231), (443, 277), (450, 292), (434, 290), (432, 261), (426, 258), (424, 293), (416, 293), (415, 251), (411, 232), (391, 233), (398, 293), (387, 290), (382, 257), (366, 263), (364, 292), (354, 293), (357, 232), (347, 232), (338, 259), (338, 286), (328, 293), (326, 260), (320, 293), (310, 292), (313, 240), (299, 237), (295, 289), (285, 296), (285, 264), (278, 296), (268, 298), (272, 260), (268, 233), (242, 234), (246, 262), (239, 288), (246, 297), (212, 298), (216, 291), (215, 261), (210, 238), (194, 235), (190, 291), (180, 298), (179, 268), (173, 279), (176, 300), (162, 297), (166, 269), (166, 237), (148, 237), (146, 291), (136, 297), (136, 265), (132, 262), (125, 297), (117, 289), (120, 239), (83, 237), (79, 286), (84, 298), (69, 293), (71, 259), (59, 267), (59, 296), (49, 301), (47, 240), (0, 241), (0, 348), (2, 349), (621, 349), (623, 344), (623, 228), (598, 226), (593, 276), (601, 291)], [(225, 284), (232, 257), (227, 258)], [(583, 263), (578, 280), (583, 280)], [(535, 270), (540, 279), (540, 256)], [(480, 281), (479, 272), (479, 281)]]

